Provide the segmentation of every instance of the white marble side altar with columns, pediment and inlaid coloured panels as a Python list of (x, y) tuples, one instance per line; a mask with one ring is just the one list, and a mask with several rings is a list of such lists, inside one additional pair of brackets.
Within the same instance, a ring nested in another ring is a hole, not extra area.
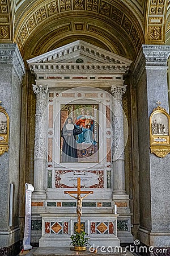
[(68, 193), (73, 196), (77, 178), (81, 193), (91, 191), (82, 201), (80, 221), (90, 243), (133, 242), (125, 191), (128, 122), (122, 109), (130, 64), (81, 40), (28, 60), (36, 75), (31, 242), (70, 245), (78, 205)]

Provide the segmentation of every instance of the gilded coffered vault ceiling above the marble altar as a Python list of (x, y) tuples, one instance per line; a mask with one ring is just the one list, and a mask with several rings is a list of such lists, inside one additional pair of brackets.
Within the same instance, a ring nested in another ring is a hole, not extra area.
[(170, 44), (170, 0), (0, 0), (0, 43), (24, 61), (78, 39), (134, 60)]

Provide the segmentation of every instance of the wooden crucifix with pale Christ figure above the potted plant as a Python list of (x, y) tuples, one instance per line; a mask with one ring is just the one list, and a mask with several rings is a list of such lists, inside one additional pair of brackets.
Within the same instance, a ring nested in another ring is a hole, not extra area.
[[(93, 193), (94, 193), (93, 191), (81, 191), (80, 177), (77, 178), (77, 191), (65, 191), (65, 194), (68, 194), (69, 196), (77, 200), (76, 214), (77, 214), (77, 228), (78, 228), (77, 232), (78, 233), (81, 233), (82, 201), (86, 196)], [(77, 194), (77, 196), (73, 196), (72, 194)], [(81, 197), (81, 194), (86, 194), (86, 195)]]

